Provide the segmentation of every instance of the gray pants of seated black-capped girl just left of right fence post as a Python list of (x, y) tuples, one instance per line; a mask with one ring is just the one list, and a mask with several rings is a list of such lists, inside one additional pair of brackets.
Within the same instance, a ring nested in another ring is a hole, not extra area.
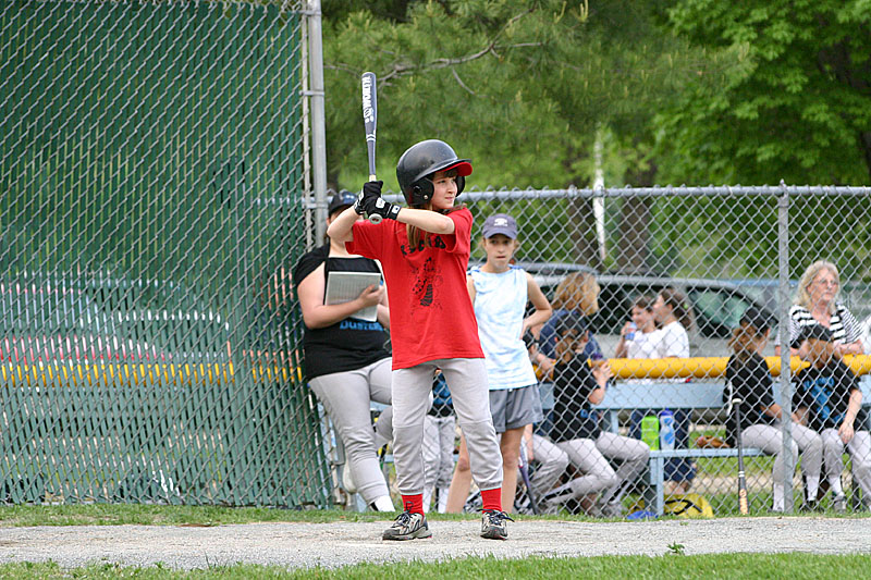
[[(783, 433), (780, 425), (752, 424), (741, 431), (741, 444), (745, 447), (758, 447), (768, 454), (776, 454), (771, 476), (774, 485), (783, 484)], [(823, 462), (823, 440), (817, 431), (793, 423), (793, 465), (798, 461), (798, 452), (801, 452), (801, 472), (806, 478), (819, 481)]]

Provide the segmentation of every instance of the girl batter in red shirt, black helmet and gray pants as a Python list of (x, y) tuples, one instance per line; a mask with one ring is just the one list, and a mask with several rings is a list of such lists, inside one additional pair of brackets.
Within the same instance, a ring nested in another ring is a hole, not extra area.
[[(468, 159), (458, 159), (445, 143), (430, 139), (406, 150), (396, 177), (407, 208), (381, 198), (383, 182), (369, 182), (353, 208), (331, 224), (331, 238), (348, 251), (379, 259), (391, 305), (393, 345), (393, 457), (403, 513), (384, 531), (384, 540), (429, 538), (424, 515), (421, 442), (424, 418), (436, 369), (441, 369), (466, 436), (471, 473), (481, 490), (481, 535), (507, 538), (502, 511), (502, 462), (493, 430), (487, 368), (466, 287), (471, 245), (471, 212), (455, 206)], [(383, 219), (358, 222), (361, 213)]]

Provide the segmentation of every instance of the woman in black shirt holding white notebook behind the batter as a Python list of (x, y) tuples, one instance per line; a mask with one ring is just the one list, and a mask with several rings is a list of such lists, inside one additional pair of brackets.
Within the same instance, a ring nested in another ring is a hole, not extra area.
[[(342, 192), (329, 205), (332, 218), (354, 203), (356, 197)], [(370, 400), (390, 405), (391, 358), (385, 348), (390, 326), (383, 283), (370, 285), (354, 300), (326, 305), (327, 282), (333, 272), (381, 270), (369, 258), (352, 256), (344, 244), (328, 242), (303, 256), (293, 270), (296, 296), (303, 310), (305, 375), (323, 405), (345, 447), (345, 490), (359, 493), (373, 509), (393, 511), (381, 472)], [(376, 320), (360, 311), (377, 308)], [(379, 447), (392, 439), (390, 407), (379, 418)]]

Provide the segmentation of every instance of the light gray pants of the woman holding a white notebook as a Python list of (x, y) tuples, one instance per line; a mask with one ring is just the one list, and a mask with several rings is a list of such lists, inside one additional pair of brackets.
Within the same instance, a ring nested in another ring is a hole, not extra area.
[[(390, 496), (378, 462), (369, 410), (370, 400), (390, 405), (390, 366), (391, 359), (383, 358), (361, 369), (323, 374), (309, 381), (342, 439), (347, 457), (345, 469), (351, 469), (357, 493), (367, 504)], [(393, 439), (391, 415), (388, 407), (376, 423), (379, 435), (387, 441)]]

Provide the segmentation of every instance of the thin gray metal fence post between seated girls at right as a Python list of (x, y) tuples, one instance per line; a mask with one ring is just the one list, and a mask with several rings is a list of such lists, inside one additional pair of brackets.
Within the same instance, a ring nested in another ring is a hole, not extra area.
[(781, 429), (783, 432), (783, 494), (784, 513), (793, 513), (793, 372), (789, 350), (789, 189), (781, 180), (777, 198), (777, 321), (781, 336)]

